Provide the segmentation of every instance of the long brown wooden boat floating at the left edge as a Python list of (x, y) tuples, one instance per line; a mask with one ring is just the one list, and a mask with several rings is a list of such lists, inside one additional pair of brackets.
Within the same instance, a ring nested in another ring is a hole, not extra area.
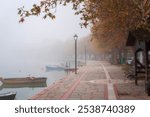
[(46, 83), (46, 77), (0, 78), (3, 84)]

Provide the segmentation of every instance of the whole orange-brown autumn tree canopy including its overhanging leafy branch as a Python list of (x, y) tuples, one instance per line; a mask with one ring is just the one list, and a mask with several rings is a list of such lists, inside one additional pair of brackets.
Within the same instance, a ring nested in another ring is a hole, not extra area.
[(81, 15), (81, 26), (92, 26), (92, 39), (97, 39), (100, 48), (105, 47), (105, 50), (125, 43), (130, 30), (150, 31), (150, 0), (41, 0), (30, 10), (18, 9), (20, 22), (40, 14), (44, 19), (55, 19), (54, 9), (59, 4), (69, 3), (75, 14)]

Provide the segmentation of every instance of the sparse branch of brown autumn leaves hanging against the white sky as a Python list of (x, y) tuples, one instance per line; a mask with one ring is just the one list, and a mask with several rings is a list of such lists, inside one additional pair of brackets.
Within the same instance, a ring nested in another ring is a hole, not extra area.
[[(29, 16), (39, 16), (40, 14), (43, 15), (43, 18), (46, 19), (47, 17), (51, 19), (55, 19), (55, 12), (58, 4), (67, 5), (68, 3), (72, 3), (74, 10), (76, 10), (76, 15), (82, 14), (84, 11), (80, 9), (80, 4), (83, 3), (84, 0), (41, 0), (40, 4), (34, 4), (30, 10), (24, 10), (24, 7), (18, 9), (18, 15), (21, 17), (19, 22), (23, 22), (26, 17)], [(79, 12), (78, 12), (79, 10)], [(88, 20), (84, 17), (84, 20)], [(85, 27), (88, 25), (88, 22), (84, 22), (83, 24)]]

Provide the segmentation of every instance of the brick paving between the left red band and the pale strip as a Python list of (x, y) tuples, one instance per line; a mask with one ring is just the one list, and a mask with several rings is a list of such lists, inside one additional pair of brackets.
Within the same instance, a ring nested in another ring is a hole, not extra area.
[[(92, 67), (91, 67), (92, 66)], [(68, 99), (99, 100), (104, 99), (105, 74), (99, 62), (91, 62), (87, 66), (87, 73), (80, 81), (78, 87)]]

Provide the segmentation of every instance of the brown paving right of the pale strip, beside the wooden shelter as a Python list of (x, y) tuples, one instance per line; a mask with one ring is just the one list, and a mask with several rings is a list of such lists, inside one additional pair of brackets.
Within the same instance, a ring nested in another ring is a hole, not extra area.
[(150, 96), (145, 93), (144, 79), (139, 80), (138, 86), (134, 80), (129, 80), (124, 76), (121, 66), (105, 63), (112, 81), (114, 82), (117, 99), (119, 100), (149, 100)]

